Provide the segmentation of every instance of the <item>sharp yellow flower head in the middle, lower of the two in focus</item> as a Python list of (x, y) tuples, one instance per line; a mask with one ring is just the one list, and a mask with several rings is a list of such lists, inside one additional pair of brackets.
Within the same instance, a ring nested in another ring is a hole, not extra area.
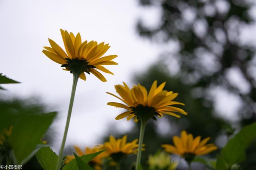
[(155, 116), (163, 117), (163, 114), (180, 117), (174, 112), (187, 114), (184, 110), (172, 106), (184, 104), (173, 101), (178, 96), (178, 93), (163, 90), (165, 82), (157, 87), (157, 81), (155, 80), (149, 92), (140, 84), (134, 85), (132, 89), (124, 82), (123, 84), (124, 86), (120, 84), (115, 86), (116, 92), (120, 97), (107, 92), (124, 103), (108, 102), (108, 105), (127, 109), (127, 111), (118, 115), (116, 120), (127, 117), (127, 120), (134, 118), (134, 121), (137, 122), (139, 119), (143, 121), (148, 121), (150, 118), (156, 120)]

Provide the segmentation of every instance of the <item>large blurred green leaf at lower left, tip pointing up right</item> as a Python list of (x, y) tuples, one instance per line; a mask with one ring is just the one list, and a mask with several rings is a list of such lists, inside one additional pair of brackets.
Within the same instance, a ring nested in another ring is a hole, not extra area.
[(22, 115), (13, 125), (10, 144), (16, 164), (26, 163), (27, 157), (36, 149), (44, 133), (51, 125), (56, 112)]

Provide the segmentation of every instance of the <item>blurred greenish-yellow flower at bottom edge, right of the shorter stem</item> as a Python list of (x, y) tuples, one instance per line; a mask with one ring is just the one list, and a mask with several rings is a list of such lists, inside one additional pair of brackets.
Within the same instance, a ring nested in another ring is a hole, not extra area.
[(178, 162), (172, 160), (170, 154), (164, 151), (148, 156), (150, 170), (175, 170)]

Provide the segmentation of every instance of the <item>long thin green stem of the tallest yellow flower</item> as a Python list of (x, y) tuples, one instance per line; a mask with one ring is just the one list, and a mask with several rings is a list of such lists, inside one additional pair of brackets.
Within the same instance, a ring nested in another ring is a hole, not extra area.
[(73, 107), (75, 93), (76, 93), (76, 85), (77, 85), (77, 82), (78, 82), (79, 75), (80, 74), (78, 74), (78, 73), (73, 73), (73, 85), (72, 85), (72, 91), (71, 91), (70, 102), (69, 102), (69, 107), (68, 107), (68, 116), (67, 116), (67, 120), (66, 120), (66, 126), (65, 126), (65, 130), (64, 130), (64, 135), (63, 135), (61, 147), (60, 147), (60, 152), (59, 152), (59, 156), (58, 156), (58, 162), (57, 162), (57, 165), (56, 165), (56, 170), (60, 170), (60, 166), (62, 164), (62, 154), (63, 154), (63, 150), (64, 150), (64, 147), (65, 147), (66, 139), (67, 139), (68, 126), (69, 126), (69, 123), (70, 123), (70, 117), (71, 117), (72, 107)]

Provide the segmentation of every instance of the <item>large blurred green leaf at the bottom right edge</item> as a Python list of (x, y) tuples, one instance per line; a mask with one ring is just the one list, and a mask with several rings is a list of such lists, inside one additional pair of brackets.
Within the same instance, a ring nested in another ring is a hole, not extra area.
[(243, 127), (221, 150), (221, 157), (228, 164), (239, 164), (246, 158), (245, 150), (256, 139), (256, 123)]

